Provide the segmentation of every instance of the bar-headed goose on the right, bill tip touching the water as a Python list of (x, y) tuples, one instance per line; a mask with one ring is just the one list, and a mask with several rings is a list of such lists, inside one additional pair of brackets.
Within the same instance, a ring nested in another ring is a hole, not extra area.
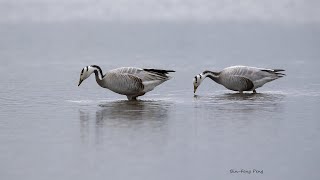
[(204, 71), (193, 79), (194, 93), (201, 82), (209, 77), (218, 84), (233, 91), (253, 91), (263, 86), (265, 83), (285, 76), (280, 73), (283, 69), (265, 69), (248, 66), (231, 66), (223, 69), (221, 72)]

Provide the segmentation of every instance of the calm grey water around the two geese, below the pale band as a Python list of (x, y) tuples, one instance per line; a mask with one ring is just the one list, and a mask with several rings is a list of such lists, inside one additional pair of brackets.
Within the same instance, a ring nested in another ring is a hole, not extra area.
[[(0, 179), (319, 179), (320, 27), (277, 24), (0, 25)], [(174, 69), (129, 102), (91, 64)], [(192, 78), (286, 69), (237, 94)]]

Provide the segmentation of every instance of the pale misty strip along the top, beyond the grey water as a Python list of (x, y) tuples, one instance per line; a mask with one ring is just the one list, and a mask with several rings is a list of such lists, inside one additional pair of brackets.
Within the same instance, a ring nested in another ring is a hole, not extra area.
[(309, 0), (1, 0), (0, 22), (267, 22), (319, 23)]

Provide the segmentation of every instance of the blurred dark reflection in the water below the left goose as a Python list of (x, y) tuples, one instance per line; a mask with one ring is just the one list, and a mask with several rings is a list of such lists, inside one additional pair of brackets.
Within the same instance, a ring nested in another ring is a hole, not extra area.
[[(150, 136), (160, 138), (161, 143), (164, 141), (161, 132), (167, 131), (171, 106), (171, 103), (164, 101), (115, 101), (100, 104), (95, 116), (90, 116), (89, 110), (80, 110), (81, 138), (86, 142), (92, 136), (95, 142), (100, 144), (107, 142), (104, 140), (107, 137), (121, 137), (120, 139), (125, 141), (128, 140), (127, 137)], [(92, 123), (95, 125), (90, 126)], [(156, 135), (157, 133), (160, 135)]]

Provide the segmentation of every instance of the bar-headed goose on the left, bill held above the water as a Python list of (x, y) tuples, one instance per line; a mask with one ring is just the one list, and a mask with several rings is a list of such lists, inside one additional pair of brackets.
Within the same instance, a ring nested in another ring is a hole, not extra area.
[(175, 71), (122, 67), (113, 69), (103, 75), (99, 66), (91, 65), (82, 69), (78, 86), (94, 73), (96, 81), (101, 87), (126, 95), (128, 100), (136, 100), (138, 96), (152, 91), (159, 84), (169, 80), (171, 78), (167, 76), (169, 72)]

